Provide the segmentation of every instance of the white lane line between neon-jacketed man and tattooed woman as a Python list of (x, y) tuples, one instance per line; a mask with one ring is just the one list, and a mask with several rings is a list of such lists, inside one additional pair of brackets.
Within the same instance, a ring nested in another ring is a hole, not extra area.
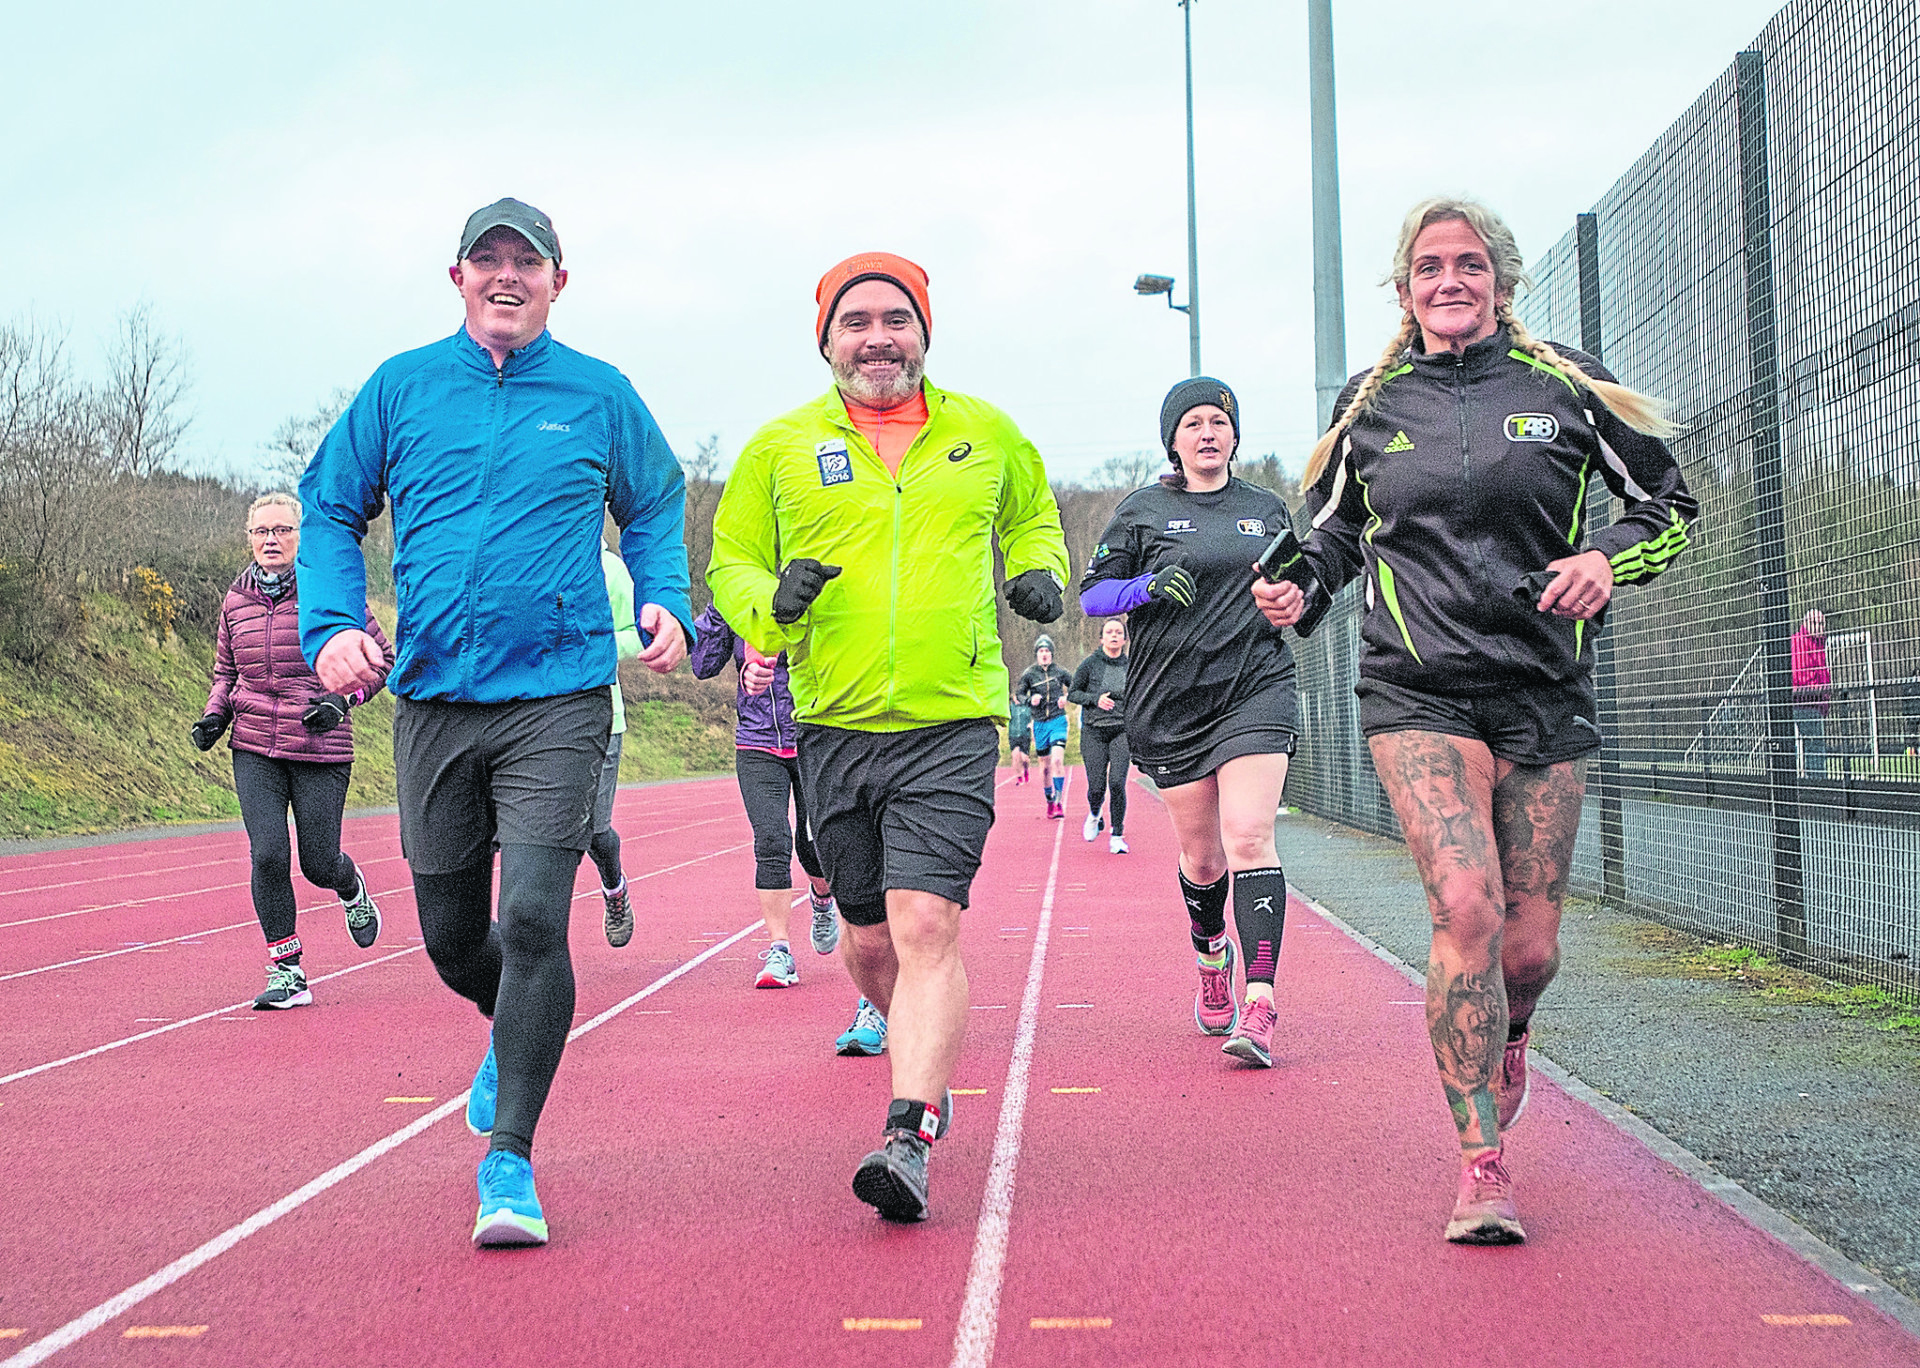
[[(1071, 774), (1068, 786), (1071, 788)], [(1066, 788), (1060, 799), (1066, 801)], [(993, 1339), (1000, 1328), (1000, 1283), (1006, 1276), (1006, 1235), (1014, 1218), (1014, 1168), (1020, 1164), (1020, 1132), (1027, 1111), (1027, 1076), (1033, 1072), (1033, 1032), (1041, 1020), (1041, 970), (1046, 966), (1046, 940), (1054, 926), (1054, 888), (1060, 880), (1060, 838), (1068, 824), (1054, 828), (1054, 859), (1046, 867), (1041, 895), (1041, 924), (1027, 959), (1027, 991), (1020, 999), (1020, 1026), (1014, 1057), (1006, 1066), (1006, 1095), (1000, 1099), (1000, 1128), (993, 1136), (987, 1166), (987, 1193), (979, 1201), (979, 1232), (973, 1235), (973, 1264), (966, 1274), (960, 1328), (954, 1331), (952, 1368), (987, 1368)], [(8, 1368), (0, 1364), (0, 1368)]]

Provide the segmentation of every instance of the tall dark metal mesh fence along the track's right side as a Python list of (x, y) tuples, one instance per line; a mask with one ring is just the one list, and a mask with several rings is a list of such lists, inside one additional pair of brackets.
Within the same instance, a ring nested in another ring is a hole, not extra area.
[[(1663, 396), (1701, 517), (1597, 647), (1576, 892), (1920, 995), (1920, 23), (1797, 0), (1534, 267), (1536, 336)], [(1596, 482), (1590, 523), (1613, 513)], [(1824, 615), (1828, 682), (1795, 632)], [(1396, 834), (1350, 588), (1288, 801)], [(1801, 688), (1795, 688), (1795, 682)]]

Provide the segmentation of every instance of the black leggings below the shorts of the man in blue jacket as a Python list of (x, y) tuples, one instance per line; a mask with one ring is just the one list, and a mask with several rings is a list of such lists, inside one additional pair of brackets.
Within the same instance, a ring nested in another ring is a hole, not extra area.
[(574, 1024), (566, 916), (578, 868), (580, 851), (501, 845), (497, 922), (492, 859), (451, 874), (413, 876), (420, 938), (440, 980), (493, 1018), (493, 1149), (524, 1159), (532, 1159), (534, 1126)]

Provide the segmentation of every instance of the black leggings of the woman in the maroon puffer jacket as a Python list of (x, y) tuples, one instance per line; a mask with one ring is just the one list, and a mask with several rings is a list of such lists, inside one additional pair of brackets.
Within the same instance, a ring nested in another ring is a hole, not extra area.
[(359, 870), (340, 849), (340, 815), (348, 805), (353, 761), (280, 761), (234, 751), (234, 794), (253, 853), (253, 915), (269, 945), (294, 934), (294, 849), (286, 809), (300, 832), (300, 872), (340, 897), (359, 892)]

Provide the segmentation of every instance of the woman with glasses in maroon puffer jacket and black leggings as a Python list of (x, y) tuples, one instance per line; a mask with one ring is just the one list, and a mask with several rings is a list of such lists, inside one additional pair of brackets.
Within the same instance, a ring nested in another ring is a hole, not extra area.
[[(380, 909), (359, 868), (340, 849), (340, 817), (353, 770), (353, 724), (348, 709), (378, 688), (342, 697), (328, 694), (300, 653), (300, 601), (294, 551), (300, 548), (300, 500), (265, 494), (248, 509), (253, 563), (221, 603), (213, 692), (194, 722), (194, 745), (211, 749), (232, 722), (234, 792), (253, 853), (253, 913), (267, 936), (267, 991), (253, 1007), (301, 1007), (313, 1001), (294, 934), (292, 847), (286, 811), (300, 832), (300, 872), (340, 893), (348, 932), (361, 949), (380, 934)], [(367, 615), (367, 632), (386, 659), (394, 647)]]

